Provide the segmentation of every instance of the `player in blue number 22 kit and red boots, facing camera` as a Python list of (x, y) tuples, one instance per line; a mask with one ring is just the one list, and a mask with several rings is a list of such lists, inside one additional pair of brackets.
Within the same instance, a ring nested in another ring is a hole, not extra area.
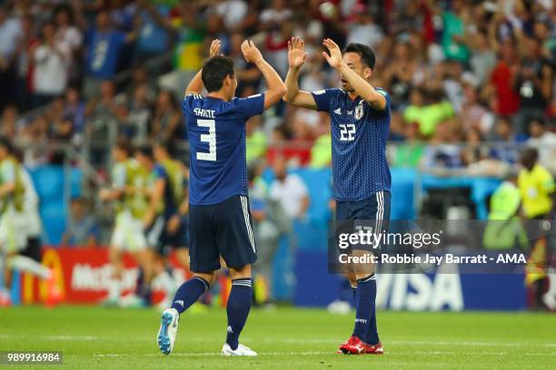
[[(303, 40), (288, 43), (290, 70), (284, 101), (329, 112), (333, 136), (333, 187), (336, 221), (372, 220), (375, 232), (387, 228), (390, 218), (390, 170), (386, 141), (390, 130), (390, 95), (369, 80), (375, 56), (369, 46), (349, 44), (342, 51), (330, 39), (323, 57), (342, 76), (341, 89), (313, 93), (299, 90), (298, 76), (305, 61)], [(352, 255), (367, 251), (353, 248)], [(347, 275), (355, 298), (355, 325), (350, 339), (340, 346), (344, 354), (382, 354), (375, 314), (376, 279), (371, 265), (350, 266)]]

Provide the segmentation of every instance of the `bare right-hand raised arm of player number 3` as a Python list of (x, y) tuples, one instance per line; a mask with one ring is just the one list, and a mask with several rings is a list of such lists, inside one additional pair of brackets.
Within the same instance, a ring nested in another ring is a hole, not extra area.
[(268, 90), (264, 93), (264, 109), (268, 109), (276, 102), (279, 102), (286, 93), (282, 78), (280, 78), (280, 75), (273, 69), (273, 66), (264, 60), (263, 54), (261, 54), (261, 51), (253, 44), (253, 41), (243, 41), (242, 52), (245, 60), (255, 64), (259, 71), (263, 73), (264, 82), (268, 87)]

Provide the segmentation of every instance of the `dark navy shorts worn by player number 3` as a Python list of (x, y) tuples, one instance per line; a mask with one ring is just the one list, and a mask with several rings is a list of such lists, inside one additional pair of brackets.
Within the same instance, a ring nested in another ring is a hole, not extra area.
[(193, 272), (219, 269), (220, 257), (229, 268), (257, 260), (249, 199), (235, 195), (210, 206), (189, 205), (189, 256)]

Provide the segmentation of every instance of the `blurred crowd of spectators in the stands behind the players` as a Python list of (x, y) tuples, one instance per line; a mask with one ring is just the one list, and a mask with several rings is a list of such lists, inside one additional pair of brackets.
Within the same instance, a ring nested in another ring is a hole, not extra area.
[[(339, 83), (321, 56), (323, 37), (372, 46), (372, 82), (392, 95), (393, 166), (496, 174), (529, 144), (556, 173), (551, 0), (2, 3), (0, 131), (27, 145), (96, 145), (89, 154), (102, 165), (107, 146), (122, 136), (186, 143), (181, 96), (214, 38), (234, 58), (237, 94), (246, 96), (263, 86), (243, 61), (243, 39), (260, 45), (285, 76), (287, 40), (297, 35), (308, 53), (300, 82), (308, 91)], [(248, 122), (247, 135), (248, 161), (330, 163), (329, 119), (321, 112), (281, 104)]]

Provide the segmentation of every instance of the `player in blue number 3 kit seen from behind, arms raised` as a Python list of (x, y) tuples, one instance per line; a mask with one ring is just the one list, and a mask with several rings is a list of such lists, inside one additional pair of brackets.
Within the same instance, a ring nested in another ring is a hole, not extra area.
[[(279, 102), (285, 86), (253, 42), (244, 41), (243, 57), (261, 71), (268, 90), (248, 98), (233, 97), (237, 87), (233, 60), (218, 55), (219, 49), (220, 41), (214, 40), (211, 58), (187, 86), (182, 105), (191, 151), (189, 231), (194, 277), (178, 288), (172, 307), (164, 310), (158, 332), (164, 355), (174, 348), (180, 314), (213, 283), (221, 256), (232, 277), (222, 354), (257, 355), (239, 344), (253, 295), (251, 265), (257, 258), (247, 199), (245, 121)], [(205, 97), (200, 95), (203, 86), (208, 92)]]

